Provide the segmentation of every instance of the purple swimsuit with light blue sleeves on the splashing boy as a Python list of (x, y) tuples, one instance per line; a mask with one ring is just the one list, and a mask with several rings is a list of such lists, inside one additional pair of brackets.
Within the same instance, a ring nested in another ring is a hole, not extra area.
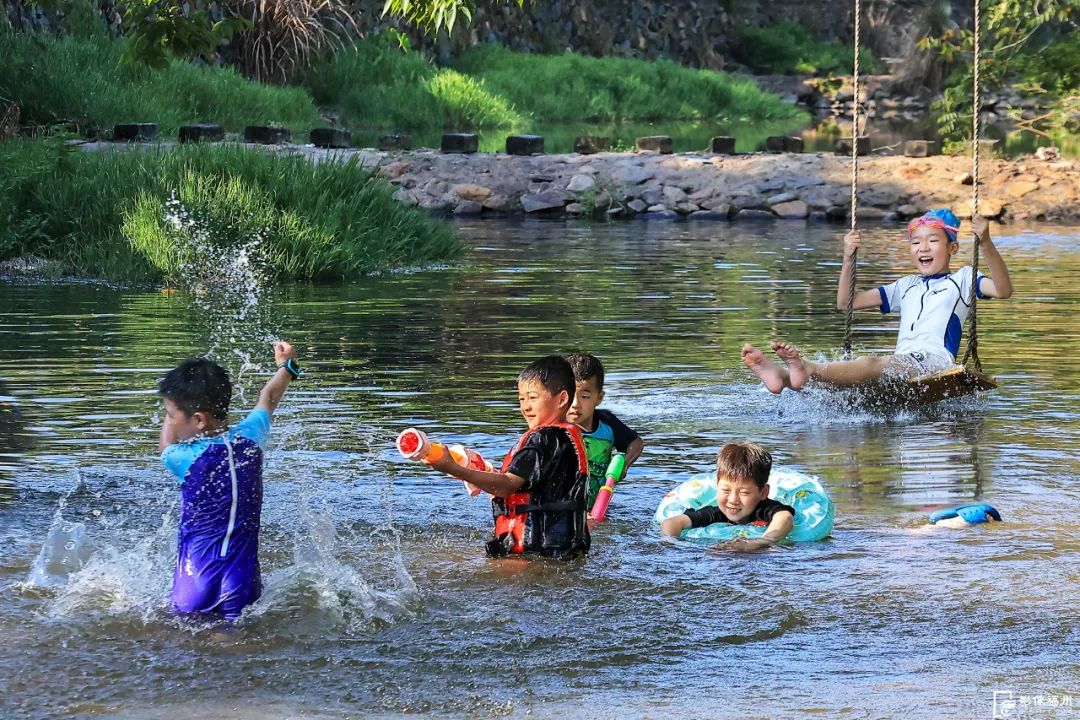
[(256, 409), (227, 433), (176, 443), (161, 453), (180, 485), (173, 574), (178, 612), (234, 621), (262, 593), (259, 516), (269, 436), (270, 413)]

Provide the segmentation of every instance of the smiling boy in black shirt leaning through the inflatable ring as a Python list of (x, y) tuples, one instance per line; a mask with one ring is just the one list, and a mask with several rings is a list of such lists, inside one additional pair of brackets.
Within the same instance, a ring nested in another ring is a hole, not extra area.
[(665, 535), (714, 522), (765, 525), (765, 534), (727, 543), (729, 549), (755, 551), (779, 543), (795, 527), (795, 508), (769, 498), (772, 456), (754, 443), (728, 443), (716, 456), (716, 505), (688, 510), (660, 525)]

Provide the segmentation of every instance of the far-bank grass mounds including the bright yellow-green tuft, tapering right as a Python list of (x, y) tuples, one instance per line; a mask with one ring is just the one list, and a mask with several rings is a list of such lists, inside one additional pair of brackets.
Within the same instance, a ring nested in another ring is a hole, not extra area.
[(387, 128), (521, 128), (561, 122), (792, 120), (802, 111), (753, 82), (675, 63), (530, 55), (499, 45), (453, 69), (373, 38), (336, 53), (305, 80), (347, 123)]

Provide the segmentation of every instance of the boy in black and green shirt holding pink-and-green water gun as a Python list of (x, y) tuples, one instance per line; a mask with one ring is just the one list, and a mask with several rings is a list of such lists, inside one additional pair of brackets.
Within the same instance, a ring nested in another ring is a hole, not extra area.
[[(645, 443), (640, 436), (627, 427), (610, 410), (599, 410), (597, 405), (604, 399), (604, 365), (588, 353), (570, 353), (567, 362), (573, 368), (573, 403), (566, 413), (567, 422), (581, 429), (589, 456), (589, 499), (586, 507), (592, 508), (596, 495), (605, 485), (605, 473), (616, 452), (624, 453), (625, 468), (642, 454)], [(622, 477), (617, 477), (621, 480)]]

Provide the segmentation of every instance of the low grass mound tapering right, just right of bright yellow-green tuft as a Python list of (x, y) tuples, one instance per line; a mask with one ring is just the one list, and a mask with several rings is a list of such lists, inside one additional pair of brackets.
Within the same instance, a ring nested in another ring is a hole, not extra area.
[(805, 118), (751, 81), (669, 60), (529, 55), (481, 45), (456, 67), (538, 122)]

